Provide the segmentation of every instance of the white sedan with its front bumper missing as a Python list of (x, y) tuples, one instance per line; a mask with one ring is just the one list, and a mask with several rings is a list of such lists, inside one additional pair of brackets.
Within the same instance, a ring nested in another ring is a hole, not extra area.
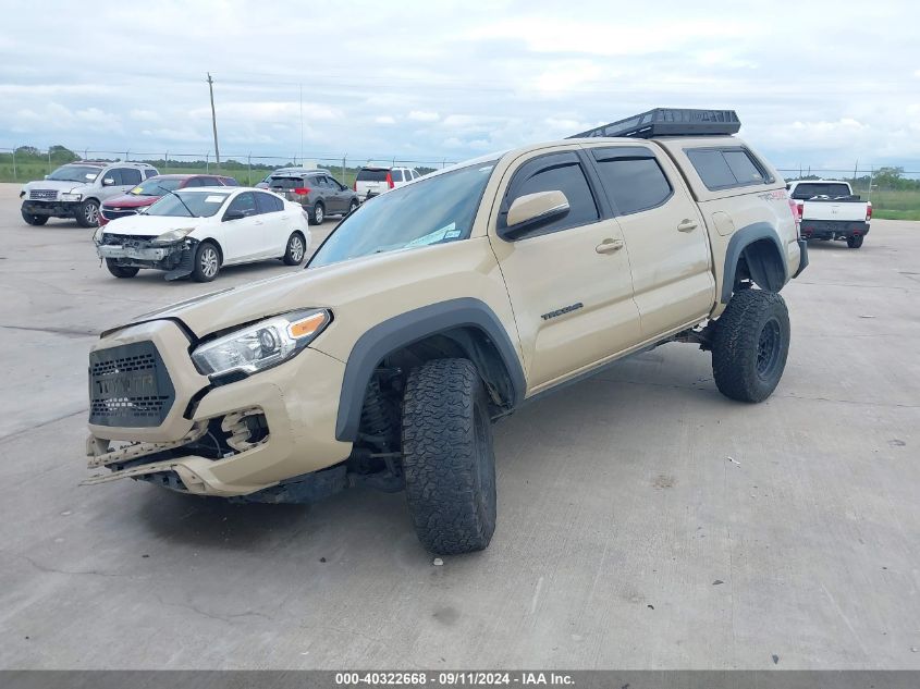
[(93, 237), (115, 278), (142, 268), (167, 280), (210, 282), (223, 266), (281, 259), (297, 266), (310, 246), (298, 204), (253, 188), (196, 187), (169, 192), (143, 212), (111, 221)]

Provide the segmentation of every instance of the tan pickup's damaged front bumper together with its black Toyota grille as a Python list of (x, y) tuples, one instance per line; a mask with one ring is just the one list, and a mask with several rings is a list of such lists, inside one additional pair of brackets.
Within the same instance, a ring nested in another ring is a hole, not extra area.
[(173, 321), (150, 321), (94, 347), (86, 454), (97, 473), (83, 484), (132, 478), (198, 495), (292, 502), (294, 491), (344, 480), (335, 465), (352, 445), (335, 439), (338, 407), (326, 402), (339, 398), (341, 361), (306, 348), (218, 384), (195, 369), (193, 341)]

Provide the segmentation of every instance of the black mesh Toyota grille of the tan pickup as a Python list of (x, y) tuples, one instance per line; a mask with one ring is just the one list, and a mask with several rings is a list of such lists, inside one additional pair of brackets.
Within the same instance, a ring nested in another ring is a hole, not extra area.
[(173, 402), (175, 389), (152, 342), (90, 352), (90, 423), (130, 428), (159, 426)]

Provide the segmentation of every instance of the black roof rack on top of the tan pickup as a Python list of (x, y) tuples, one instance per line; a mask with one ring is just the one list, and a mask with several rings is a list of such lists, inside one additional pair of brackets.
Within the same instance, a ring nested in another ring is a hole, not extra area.
[(688, 108), (655, 108), (641, 114), (574, 134), (568, 138), (596, 136), (707, 136), (736, 134), (741, 122), (734, 110), (690, 110)]

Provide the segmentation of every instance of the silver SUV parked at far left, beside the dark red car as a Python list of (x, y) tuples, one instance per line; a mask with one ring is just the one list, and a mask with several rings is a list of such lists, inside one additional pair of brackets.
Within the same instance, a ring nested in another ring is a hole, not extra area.
[(23, 186), (23, 220), (44, 225), (49, 218), (73, 218), (81, 227), (95, 227), (102, 201), (127, 194), (158, 174), (154, 165), (144, 162), (81, 160), (61, 165), (41, 182)]

